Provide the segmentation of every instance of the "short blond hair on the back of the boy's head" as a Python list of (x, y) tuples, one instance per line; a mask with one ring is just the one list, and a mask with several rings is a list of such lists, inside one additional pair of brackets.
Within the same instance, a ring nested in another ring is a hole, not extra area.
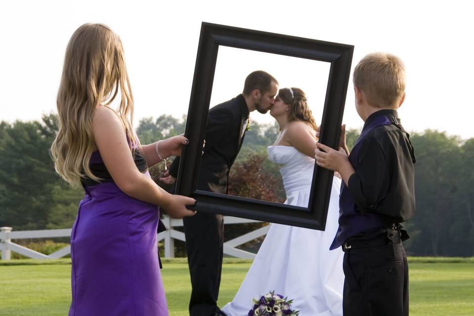
[(398, 105), (405, 92), (405, 66), (389, 53), (372, 53), (354, 69), (354, 86), (364, 92), (367, 103), (377, 108)]

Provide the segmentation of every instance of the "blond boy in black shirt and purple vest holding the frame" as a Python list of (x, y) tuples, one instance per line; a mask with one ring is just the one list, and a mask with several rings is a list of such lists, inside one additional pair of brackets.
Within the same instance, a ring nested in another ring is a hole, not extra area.
[[(344, 180), (339, 229), (331, 249), (344, 254), (343, 312), (407, 316), (408, 265), (401, 230), (415, 211), (415, 156), (396, 110), (405, 98), (405, 71), (386, 53), (365, 56), (354, 70), (357, 114), (365, 122), (349, 155), (317, 144), (316, 163)], [(344, 131), (343, 131), (344, 132)]]

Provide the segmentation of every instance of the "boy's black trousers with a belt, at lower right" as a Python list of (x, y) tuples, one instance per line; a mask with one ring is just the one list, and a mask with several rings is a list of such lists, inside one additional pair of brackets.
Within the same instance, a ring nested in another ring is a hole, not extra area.
[(408, 265), (400, 232), (349, 238), (343, 249), (344, 316), (408, 316)]

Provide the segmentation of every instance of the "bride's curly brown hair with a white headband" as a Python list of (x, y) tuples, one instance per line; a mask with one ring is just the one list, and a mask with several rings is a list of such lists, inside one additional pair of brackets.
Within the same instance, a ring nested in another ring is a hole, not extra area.
[(282, 88), (278, 91), (278, 96), (287, 105), (288, 109), (288, 121), (299, 120), (308, 123), (315, 130), (317, 128), (315, 118), (311, 112), (306, 94), (300, 88), (291, 88), (293, 94), (291, 94), (290, 88)]

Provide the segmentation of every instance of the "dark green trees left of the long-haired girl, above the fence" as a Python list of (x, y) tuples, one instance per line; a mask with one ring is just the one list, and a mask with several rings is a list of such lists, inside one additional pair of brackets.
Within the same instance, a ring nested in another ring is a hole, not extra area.
[[(41, 121), (2, 122), (0, 126), (0, 226), (12, 226), (15, 230), (46, 229), (54, 218), (55, 228), (71, 227), (70, 220), (62, 221), (50, 213), (62, 207), (63, 217), (70, 218), (71, 214), (76, 215), (79, 202), (78, 191), (59, 178), (49, 156), (57, 129), (56, 117), (44, 115)], [(71, 193), (76, 202), (68, 199), (63, 203)]]

